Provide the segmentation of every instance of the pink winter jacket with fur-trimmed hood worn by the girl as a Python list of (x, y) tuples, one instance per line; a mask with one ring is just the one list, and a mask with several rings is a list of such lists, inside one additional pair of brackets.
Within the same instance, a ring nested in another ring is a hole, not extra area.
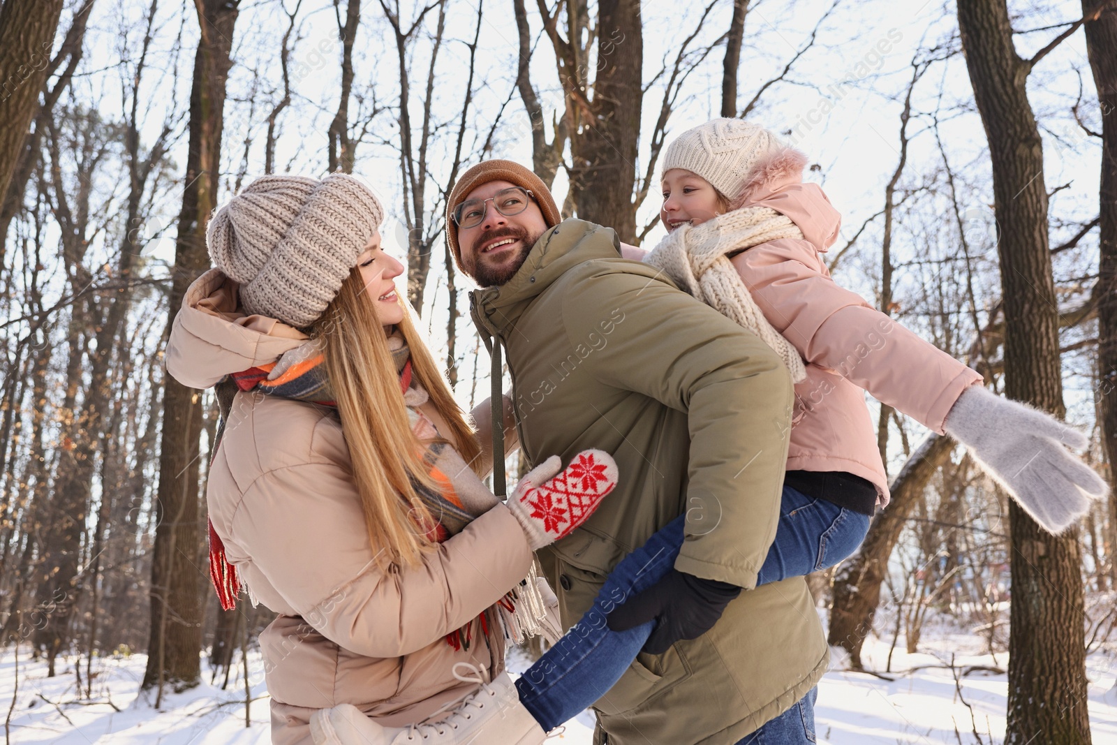
[[(795, 385), (787, 470), (860, 476), (884, 507), (888, 477), (862, 389), (942, 434), (951, 407), (982, 378), (834, 284), (821, 254), (837, 240), (841, 216), (818, 184), (784, 173), (744, 206), (768, 207), (803, 232), (803, 240), (773, 240), (732, 259), (768, 323), (806, 362), (806, 380)], [(624, 255), (639, 256), (628, 248)]]

